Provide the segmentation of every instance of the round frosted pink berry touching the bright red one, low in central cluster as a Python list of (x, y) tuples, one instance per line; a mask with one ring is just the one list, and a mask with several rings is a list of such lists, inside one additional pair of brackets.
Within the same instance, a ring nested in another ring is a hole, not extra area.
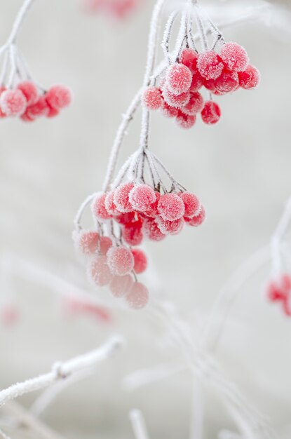
[(129, 248), (111, 247), (107, 252), (107, 264), (112, 274), (124, 276), (133, 270), (135, 259)]

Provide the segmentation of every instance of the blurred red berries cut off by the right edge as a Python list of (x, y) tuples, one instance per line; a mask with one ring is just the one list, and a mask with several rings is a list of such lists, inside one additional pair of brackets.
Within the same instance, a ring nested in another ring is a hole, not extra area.
[(267, 297), (271, 302), (280, 302), (285, 316), (291, 316), (291, 277), (284, 273), (267, 287)]

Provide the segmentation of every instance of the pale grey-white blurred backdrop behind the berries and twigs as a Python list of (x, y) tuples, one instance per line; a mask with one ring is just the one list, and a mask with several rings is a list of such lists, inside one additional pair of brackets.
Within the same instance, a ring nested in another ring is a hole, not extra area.
[[(34, 78), (47, 87), (69, 86), (74, 103), (53, 120), (1, 120), (0, 243), (1, 255), (9, 252), (89, 289), (72, 244), (73, 218), (83, 198), (102, 186), (121, 114), (142, 83), (153, 1), (144, 0), (121, 22), (85, 13), (80, 1), (35, 1), (18, 38)], [(1, 1), (3, 43), (20, 5), (20, 0)], [(225, 21), (262, 3), (205, 5), (213, 19)], [(146, 279), (151, 297), (161, 294), (173, 302), (195, 337), (228, 276), (269, 242), (291, 194), (291, 22), (288, 8), (277, 15), (278, 8), (225, 29), (226, 40), (247, 48), (262, 83), (257, 90), (220, 97), (219, 125), (199, 120), (182, 130), (160, 114), (152, 117), (150, 147), (178, 181), (198, 194), (208, 220), (197, 230), (185, 228), (179, 236), (147, 243)], [(140, 113), (124, 142), (123, 160), (137, 147), (139, 130)], [(266, 266), (242, 288), (217, 358), (227, 377), (269, 417), (278, 437), (287, 439), (291, 320), (264, 297), (269, 271)], [(20, 310), (17, 324), (0, 328), (1, 388), (46, 372), (55, 360), (95, 348), (112, 332), (127, 339), (126, 348), (102, 363), (94, 377), (61, 393), (42, 415), (44, 422), (66, 438), (132, 438), (128, 410), (139, 407), (151, 439), (188, 437), (189, 372), (132, 392), (122, 386), (126, 374), (180, 356), (149, 310), (116, 307), (106, 290), (92, 290), (100, 302), (108, 302), (111, 321), (68, 317), (51, 288), (19, 276), (13, 276), (10, 288), (3, 282), (0, 293), (3, 302), (11, 299)], [(203, 389), (205, 438), (211, 439), (232, 424), (219, 394)], [(19, 401), (29, 407), (34, 398)]]

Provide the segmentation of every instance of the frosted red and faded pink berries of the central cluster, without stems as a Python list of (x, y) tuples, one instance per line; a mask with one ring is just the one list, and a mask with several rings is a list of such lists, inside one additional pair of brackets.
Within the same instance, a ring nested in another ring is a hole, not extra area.
[(99, 230), (109, 225), (107, 230), (115, 227), (115, 233), (76, 233), (79, 250), (90, 256), (88, 274), (96, 285), (109, 285), (112, 294), (126, 299), (133, 309), (143, 308), (149, 299), (147, 288), (137, 281), (137, 275), (147, 269), (147, 257), (137, 246), (144, 238), (161, 241), (179, 234), (184, 224), (197, 227), (205, 219), (205, 210), (194, 194), (161, 194), (148, 184), (133, 182), (97, 194), (92, 212)]

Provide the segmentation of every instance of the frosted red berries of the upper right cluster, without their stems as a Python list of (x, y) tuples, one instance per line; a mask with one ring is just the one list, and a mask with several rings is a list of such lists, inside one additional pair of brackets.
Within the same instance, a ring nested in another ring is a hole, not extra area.
[[(258, 70), (248, 64), (248, 54), (237, 43), (224, 43), (219, 54), (215, 50), (198, 53), (184, 48), (159, 86), (144, 90), (142, 102), (147, 109), (161, 109), (164, 116), (175, 117), (182, 128), (194, 126), (199, 113), (204, 123), (212, 125), (221, 116), (212, 95), (225, 95), (239, 88), (249, 90), (258, 83)], [(200, 93), (203, 87), (209, 92), (209, 100)]]

